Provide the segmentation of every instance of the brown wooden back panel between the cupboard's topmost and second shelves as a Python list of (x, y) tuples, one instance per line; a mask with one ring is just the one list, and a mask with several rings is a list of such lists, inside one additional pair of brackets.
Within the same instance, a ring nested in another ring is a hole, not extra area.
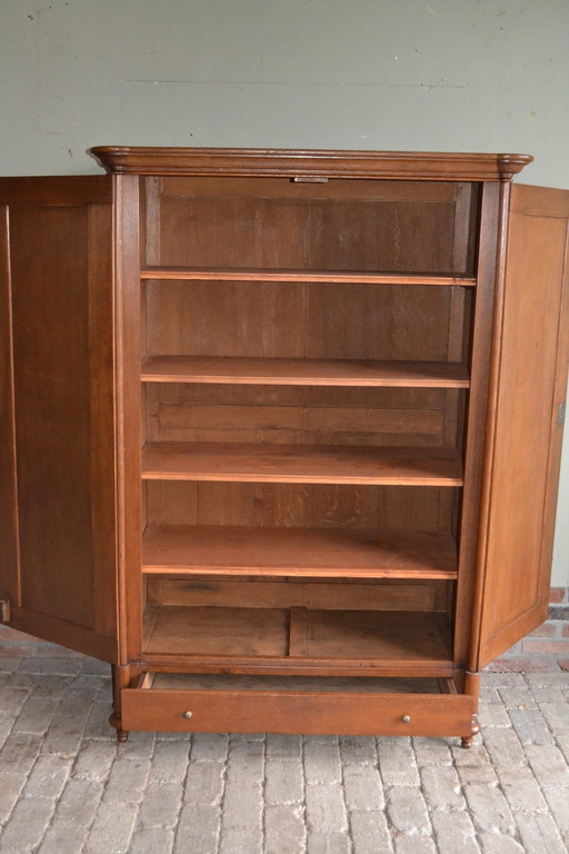
[(421, 285), (143, 287), (147, 354), (172, 356), (460, 360), (470, 301), (461, 288)]

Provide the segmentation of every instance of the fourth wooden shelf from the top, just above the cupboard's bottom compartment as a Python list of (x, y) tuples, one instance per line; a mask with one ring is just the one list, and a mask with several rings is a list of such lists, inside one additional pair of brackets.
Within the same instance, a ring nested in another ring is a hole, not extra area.
[(313, 578), (456, 578), (450, 534), (149, 526), (142, 572)]

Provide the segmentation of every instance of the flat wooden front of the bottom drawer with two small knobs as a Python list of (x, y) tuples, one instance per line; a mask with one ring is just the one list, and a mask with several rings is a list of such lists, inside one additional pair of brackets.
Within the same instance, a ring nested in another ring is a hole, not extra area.
[(122, 728), (150, 732), (469, 736), (459, 694), (122, 691)]

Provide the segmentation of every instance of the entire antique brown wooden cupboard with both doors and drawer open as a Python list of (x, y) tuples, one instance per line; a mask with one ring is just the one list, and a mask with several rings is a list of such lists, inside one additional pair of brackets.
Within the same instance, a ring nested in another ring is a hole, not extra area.
[(129, 729), (460, 736), (547, 616), (569, 192), (519, 155), (0, 180), (6, 623)]

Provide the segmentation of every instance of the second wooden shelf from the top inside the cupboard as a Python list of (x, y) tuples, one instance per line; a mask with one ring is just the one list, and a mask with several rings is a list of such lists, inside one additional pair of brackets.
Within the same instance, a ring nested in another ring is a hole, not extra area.
[(150, 356), (144, 383), (468, 388), (461, 363)]

